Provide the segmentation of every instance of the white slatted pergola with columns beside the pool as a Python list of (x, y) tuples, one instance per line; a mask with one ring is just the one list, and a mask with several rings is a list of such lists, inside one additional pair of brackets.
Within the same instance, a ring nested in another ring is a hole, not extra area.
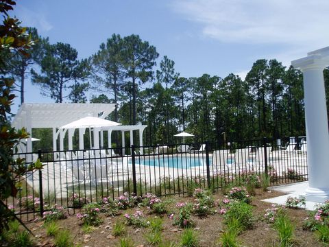
[[(74, 129), (59, 129), (61, 126), (71, 123), (72, 121), (81, 119), (82, 117), (92, 116), (104, 119), (114, 110), (115, 104), (80, 104), (80, 103), (23, 103), (19, 108), (12, 126), (15, 128), (25, 127), (27, 132), (32, 133), (32, 128), (52, 128), (53, 130), (53, 151), (57, 151), (57, 139), (60, 137), (60, 149), (64, 150), (64, 137), (66, 132), (69, 135), (69, 150), (73, 150), (72, 138)], [(119, 128), (117, 128), (119, 127)], [(139, 145), (143, 145), (143, 131), (147, 126), (113, 126), (110, 128), (94, 128), (94, 143), (93, 148), (99, 148), (99, 132), (101, 133), (100, 141), (103, 147), (103, 131), (108, 131), (108, 145), (111, 145), (111, 134), (113, 130), (122, 132), (130, 132), (130, 143), (133, 144), (133, 131), (139, 131)], [(79, 148), (84, 149), (84, 133), (86, 128), (79, 129)], [(123, 138), (123, 146), (125, 145)], [(27, 152), (32, 152), (32, 141), (27, 139)]]

